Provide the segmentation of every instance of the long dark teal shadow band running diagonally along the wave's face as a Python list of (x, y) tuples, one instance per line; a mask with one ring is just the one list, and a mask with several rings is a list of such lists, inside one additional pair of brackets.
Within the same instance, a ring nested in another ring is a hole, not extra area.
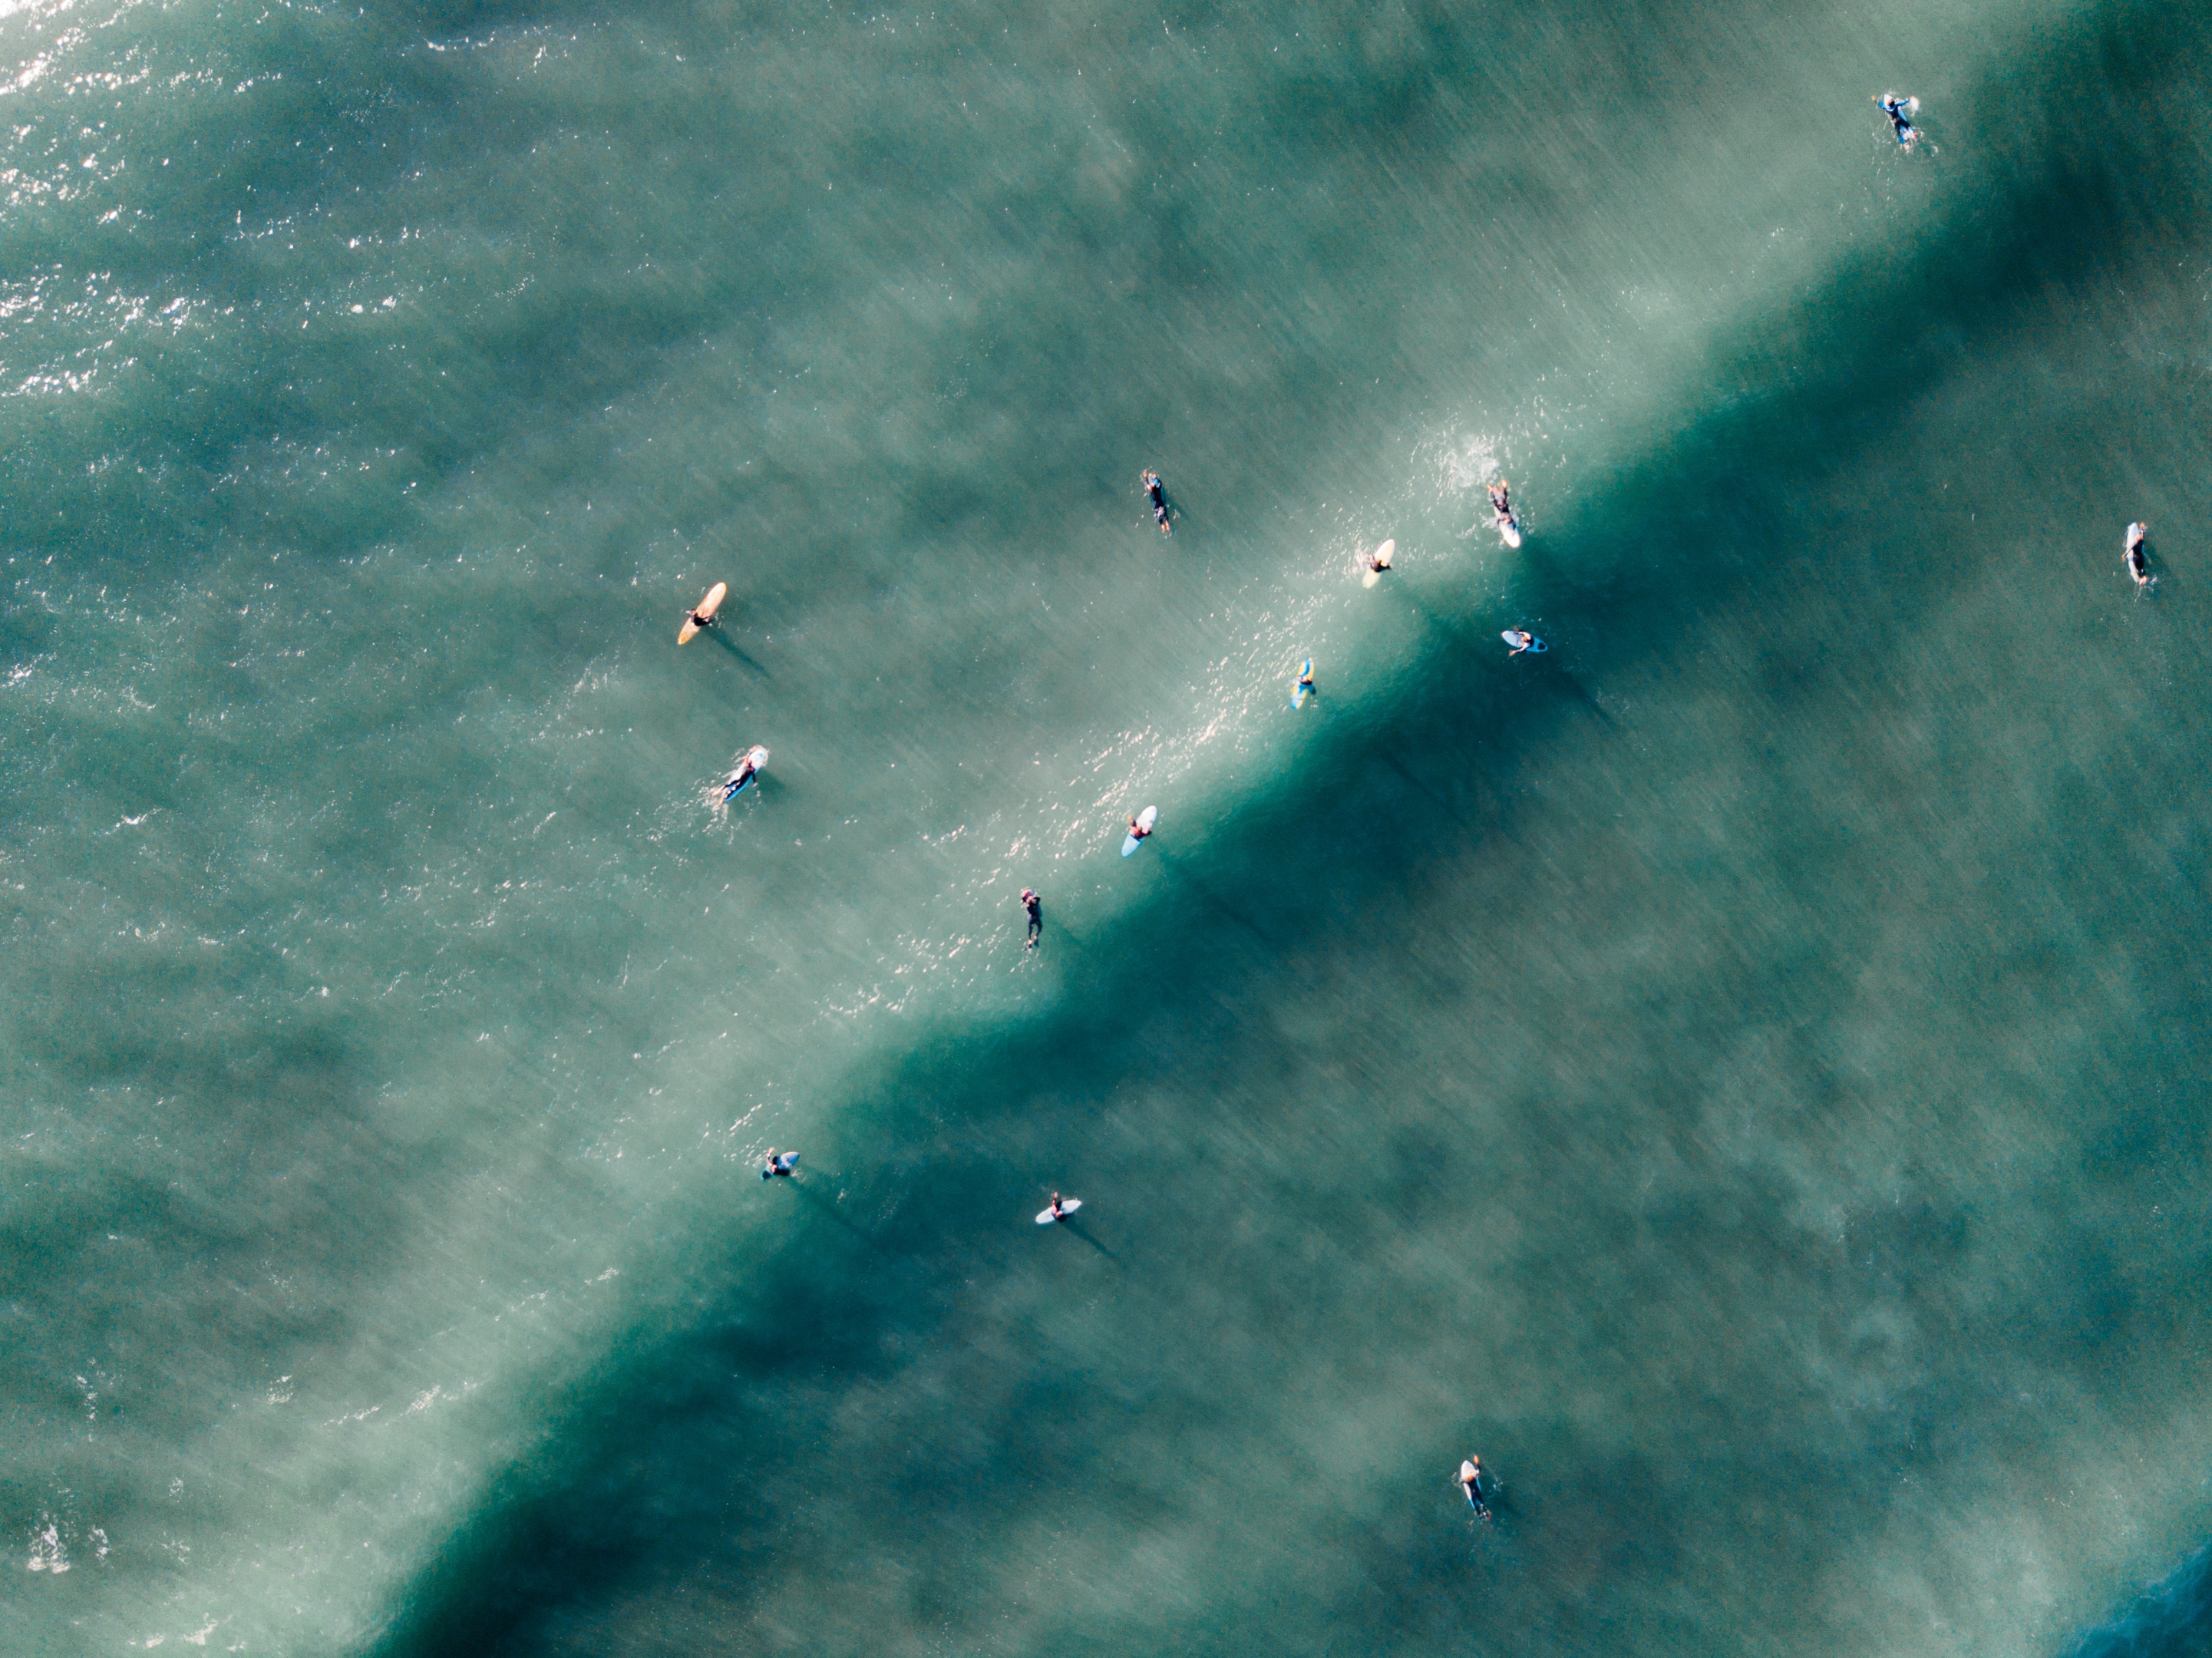
[[(2188, 31), (2194, 31), (2194, 49), (2177, 40)], [(1533, 567), (1522, 578), (1531, 613), (1571, 622), (1577, 673), (1648, 660), (1703, 618), (1761, 607), (1763, 589), (1741, 564), (1705, 558), (1699, 520), (1725, 516), (1745, 527), (1739, 545), (1778, 551), (1785, 531), (1770, 525), (1787, 522), (1794, 487), (1845, 472), (1858, 447), (1893, 421), (1898, 385), (1920, 374), (1938, 379), (1955, 361), (1958, 334), (2000, 336), (2008, 308), (2053, 286), (2077, 288), (2110, 274), (2143, 226), (2203, 221), (2205, 179), (2194, 170), (2190, 144), (2168, 131), (2177, 111), (2161, 100), (2190, 93), (2179, 66), (2212, 46), (2208, 33), (2203, 18), (2177, 22), (2166, 7), (2104, 7), (2077, 20), (2051, 44), (2046, 64), (2026, 77), (2037, 84), (1997, 86), (1984, 100), (1984, 106), (2033, 111), (2006, 139), (2015, 155), (2044, 162), (2011, 175), (2028, 184), (1991, 186), (1978, 215), (1949, 243), (1924, 248), (1911, 261), (1898, 261), (1891, 248), (1869, 252), (1785, 317), (1761, 319), (1747, 330), (1734, 359), (1714, 367), (1714, 410), (1663, 452), (1624, 467), (1613, 491), (1582, 514), (1575, 533), (1588, 558), (1577, 571)], [(2106, 139), (2095, 157), (2077, 155), (2070, 139), (2081, 120), (2084, 93), (2075, 84), (2081, 64), (2097, 64), (2110, 97), (2128, 111), (2128, 120), (2101, 126)], [(2073, 86), (2070, 95), (2059, 97), (2062, 86)], [(2064, 115), (2066, 131), (2051, 111)], [(2057, 235), (2057, 226), (2066, 232)], [(1674, 522), (1655, 525), (1648, 502), (1661, 496), (1677, 505)], [(1909, 595), (1916, 582), (1958, 580), (1973, 558), (1973, 549), (1962, 547), (1942, 571), (1885, 571), (1885, 580)], [(1847, 573), (1838, 571), (1836, 580)], [(1458, 666), (1455, 655), (1464, 649), (1431, 649), (1422, 677)], [(1869, 649), (1838, 673), (1871, 680), (1880, 662)], [(1473, 746), (1498, 744), (1540, 757), (1559, 717), (1595, 706), (1568, 673), (1548, 673), (1537, 684), (1491, 675), (1484, 684), (1489, 688), (1475, 697), (1407, 693), (1356, 739), (1329, 733), (1323, 739), (1329, 753), (1310, 759), (1347, 779), (1387, 770), (1411, 781), (1438, 817), (1460, 830), (1458, 837), (1440, 832), (1438, 821), (1418, 810), (1378, 815), (1369, 854), (1347, 861), (1305, 830), (1301, 775), (1243, 804), (1234, 835), (1221, 839), (1208, 863), (1263, 901), (1292, 936), (1307, 923), (1325, 923), (1329, 903), (1343, 910), (1360, 901), (1409, 901), (1420, 870), (1442, 848), (1467, 846), (1511, 815), (1511, 806), (1473, 775)], [(1172, 872), (1206, 890), (1199, 877)], [(1248, 916), (1219, 899), (1208, 903), (1267, 941)], [(1006, 1171), (984, 1169), (987, 1147), (1040, 1138), (1062, 1151), (1088, 1144), (1086, 1129), (1040, 1120), (1040, 1078), (1079, 1074), (1086, 1060), (1113, 1067), (1128, 1051), (1130, 1034), (1159, 1020), (1212, 1018), (1217, 1025), (1206, 1029), (1223, 1032), (1225, 1040), (1234, 1007), (1210, 1007), (1190, 985), (1228, 985), (1230, 994), (1219, 998), (1228, 1003), (1241, 987), (1259, 1001), (1279, 972), (1265, 956), (1232, 947), (1219, 930), (1190, 925), (1181, 899), (1159, 899), (1135, 914), (1119, 943), (1119, 963), (1102, 967), (1062, 1012), (1035, 1027), (1004, 1034), (991, 1047), (964, 1029), (925, 1034), (911, 1056), (891, 1063), (896, 1087), (883, 1098), (907, 1105), (872, 1125), (876, 1156), (902, 1171), (891, 1220), (863, 1233), (825, 1200), (807, 1195), (810, 1224), (794, 1226), (770, 1257), (750, 1262), (743, 1279), (732, 1275), (719, 1291), (703, 1286), (708, 1310), (613, 1357), (580, 1397), (551, 1401), (544, 1454), (518, 1463), (484, 1494), (473, 1519), (405, 1589), (374, 1651), (380, 1658), (535, 1651), (566, 1607), (613, 1603), (637, 1589), (644, 1545), (622, 1538), (644, 1538), (648, 1527), (608, 1514), (653, 1510), (666, 1521), (677, 1501), (668, 1485), (684, 1485), (684, 1470), (785, 1432), (785, 1423), (768, 1419), (759, 1403), (768, 1381), (805, 1375), (816, 1390), (858, 1395), (863, 1384), (896, 1368), (898, 1350), (940, 1337), (940, 1322), (951, 1319), (953, 1306), (953, 1291), (940, 1282), (945, 1275), (982, 1277), (1029, 1260), (1024, 1240), (1013, 1233), (1031, 1229), (1004, 1220), (1020, 1213), (1024, 1184)], [(1161, 958), (1175, 961), (1172, 976), (1157, 972)], [(1192, 1040), (1183, 1051), (1206, 1049)], [(1055, 1153), (1053, 1162), (1068, 1158)], [(1108, 1253), (1095, 1237), (1071, 1231)], [(860, 1244), (880, 1251), (880, 1266), (843, 1271)], [(1146, 1246), (1130, 1248), (1141, 1255)], [(739, 1372), (734, 1390), (732, 1370)], [(1048, 1379), (1022, 1384), (991, 1443), (1006, 1443), (1002, 1454), (1013, 1457), (1011, 1441), (1026, 1437), (1031, 1461), (1057, 1463), (1002, 1481), (993, 1479), (989, 1461), (967, 1463), (962, 1481), (925, 1468), (891, 1492), (909, 1523), (967, 1514), (962, 1492), (953, 1490), (958, 1483), (991, 1485), (995, 1525), (1020, 1525), (1013, 1510), (1022, 1503), (1048, 1503), (1055, 1479), (1079, 1468), (1108, 1432), (1093, 1421), (1097, 1412), (1086, 1415), (1079, 1397), (1053, 1395), (1051, 1386)], [(1639, 1490), (1661, 1488), (1657, 1472), (1637, 1465), (1588, 1479), (1615, 1490), (1624, 1481)], [(701, 1525), (728, 1523), (730, 1510), (750, 1501), (737, 1479), (728, 1488), (703, 1483), (710, 1490), (695, 1499)], [(1520, 1485), (1528, 1512), (1546, 1492), (1566, 1503), (1537, 1474), (1522, 1476)], [(1582, 1512), (1597, 1510), (1586, 1505)], [(1871, 1501), (1869, 1512), (1876, 1512)], [(1378, 1614), (1385, 1636), (1402, 1636), (1411, 1625), (1400, 1629), (1398, 1623), (1431, 1616), (1420, 1609), (1420, 1592), (1433, 1589), (1442, 1572), (1458, 1569), (1458, 1556), (1447, 1561), (1433, 1547), (1422, 1554), (1427, 1545), (1387, 1527), (1365, 1547), (1378, 1563), (1400, 1561), (1389, 1569), (1378, 1565), (1378, 1581), (1402, 1583), (1413, 1574), (1407, 1592), (1394, 1596), (1396, 1609)], [(1663, 1530), (1641, 1527), (1624, 1532), (1617, 1547), (1624, 1563), (1641, 1561), (1637, 1550), (1663, 1563), (1668, 1541)], [(726, 1547), (719, 1565), (743, 1578), (768, 1558), (765, 1550)], [(2188, 1592), (2159, 1598), (2174, 1609), (2170, 1634), (2097, 1634), (2075, 1649), (2075, 1658), (2199, 1651), (2201, 1645), (2185, 1645), (2194, 1636), (2183, 1631), (2201, 1627), (2203, 1563), (2177, 1583)], [(2152, 1625), (2157, 1620), (2146, 1616), (2128, 1627), (2148, 1631)]]

